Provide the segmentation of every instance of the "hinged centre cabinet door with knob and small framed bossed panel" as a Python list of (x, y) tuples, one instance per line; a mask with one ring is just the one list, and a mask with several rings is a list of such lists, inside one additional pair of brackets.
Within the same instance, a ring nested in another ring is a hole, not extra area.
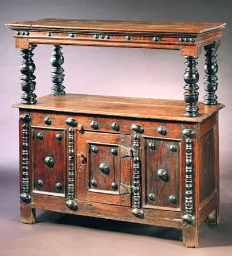
[(131, 206), (129, 135), (84, 131), (77, 135), (77, 199)]

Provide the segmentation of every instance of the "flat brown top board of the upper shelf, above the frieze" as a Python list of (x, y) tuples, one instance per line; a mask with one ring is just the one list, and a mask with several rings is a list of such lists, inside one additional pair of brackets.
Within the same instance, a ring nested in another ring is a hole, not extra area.
[(43, 19), (38, 21), (13, 22), (9, 27), (34, 29), (73, 29), (100, 30), (106, 32), (151, 32), (151, 33), (190, 33), (201, 34), (223, 29), (225, 23), (196, 22), (150, 22), (150, 21), (95, 21), (95, 20), (64, 20)]

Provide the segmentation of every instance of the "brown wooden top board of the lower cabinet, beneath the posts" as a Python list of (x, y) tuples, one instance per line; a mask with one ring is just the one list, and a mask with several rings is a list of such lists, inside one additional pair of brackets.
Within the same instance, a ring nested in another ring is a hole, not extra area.
[(182, 122), (203, 122), (225, 107), (221, 103), (210, 106), (198, 102), (199, 116), (188, 118), (183, 116), (185, 106), (186, 102), (183, 100), (65, 94), (47, 95), (38, 98), (36, 104), (15, 104), (12, 107)]

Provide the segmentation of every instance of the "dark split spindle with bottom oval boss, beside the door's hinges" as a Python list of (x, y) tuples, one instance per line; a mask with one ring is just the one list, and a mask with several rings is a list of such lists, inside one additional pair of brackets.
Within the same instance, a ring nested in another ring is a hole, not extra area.
[(136, 217), (143, 217), (140, 195), (140, 159), (139, 159), (139, 136), (133, 137), (133, 205), (135, 208), (131, 211)]

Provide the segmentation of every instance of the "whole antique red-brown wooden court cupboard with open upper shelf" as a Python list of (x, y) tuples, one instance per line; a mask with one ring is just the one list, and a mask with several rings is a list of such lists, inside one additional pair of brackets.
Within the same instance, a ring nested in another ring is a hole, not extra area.
[[(44, 19), (6, 25), (15, 30), (24, 61), (24, 101), (13, 106), (20, 114), (22, 222), (34, 223), (37, 208), (182, 228), (184, 245), (198, 246), (200, 223), (219, 222), (218, 111), (224, 105), (211, 95), (217, 83), (209, 76), (217, 80), (211, 65), (225, 24)], [(31, 57), (37, 44), (54, 45), (55, 95), (36, 103)], [(60, 45), (179, 49), (188, 62), (187, 106), (181, 100), (61, 95)], [(205, 67), (210, 104), (196, 106), (195, 59), (202, 46), (214, 47)]]

